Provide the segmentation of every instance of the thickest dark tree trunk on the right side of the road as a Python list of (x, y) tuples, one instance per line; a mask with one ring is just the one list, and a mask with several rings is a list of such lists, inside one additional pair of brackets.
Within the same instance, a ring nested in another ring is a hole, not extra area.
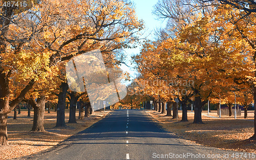
[(199, 123), (199, 124), (203, 124), (202, 121), (202, 107), (203, 107), (203, 103), (201, 100), (200, 96), (195, 97), (195, 101), (194, 101), (194, 122), (193, 123)]

